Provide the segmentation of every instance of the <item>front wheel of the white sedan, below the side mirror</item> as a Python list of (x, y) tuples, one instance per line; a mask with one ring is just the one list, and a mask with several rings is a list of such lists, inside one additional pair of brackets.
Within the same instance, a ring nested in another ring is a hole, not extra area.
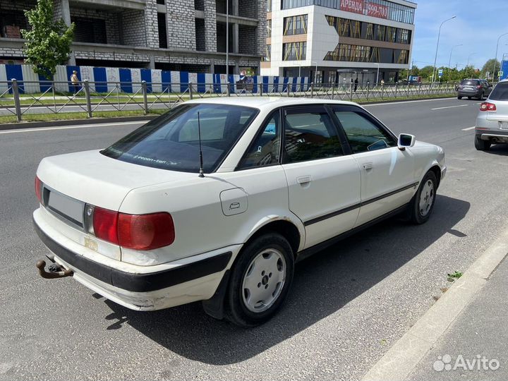
[(413, 224), (424, 224), (432, 214), (437, 191), (437, 179), (433, 171), (428, 171), (409, 203), (409, 215)]

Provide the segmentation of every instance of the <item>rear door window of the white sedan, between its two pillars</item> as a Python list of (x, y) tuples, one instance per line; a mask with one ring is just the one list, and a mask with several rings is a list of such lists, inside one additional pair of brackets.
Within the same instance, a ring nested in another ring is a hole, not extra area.
[(284, 118), (284, 162), (343, 155), (337, 129), (325, 109), (288, 110)]

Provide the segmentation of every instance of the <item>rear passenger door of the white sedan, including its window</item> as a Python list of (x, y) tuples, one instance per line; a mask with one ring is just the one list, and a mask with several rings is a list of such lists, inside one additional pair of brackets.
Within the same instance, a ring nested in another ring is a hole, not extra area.
[(353, 228), (360, 169), (351, 155), (344, 155), (345, 136), (325, 106), (289, 107), (283, 119), (289, 209), (302, 220), (309, 248)]

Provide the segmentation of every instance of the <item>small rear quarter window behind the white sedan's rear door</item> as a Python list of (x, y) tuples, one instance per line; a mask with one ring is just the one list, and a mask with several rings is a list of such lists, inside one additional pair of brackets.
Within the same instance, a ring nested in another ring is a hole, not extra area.
[(247, 169), (277, 164), (280, 152), (280, 131), (280, 112), (277, 110), (262, 127), (261, 133), (255, 138), (238, 167)]

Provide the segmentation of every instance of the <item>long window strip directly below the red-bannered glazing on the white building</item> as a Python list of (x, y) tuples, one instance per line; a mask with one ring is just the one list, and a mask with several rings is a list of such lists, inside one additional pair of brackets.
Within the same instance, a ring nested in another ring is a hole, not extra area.
[(400, 44), (411, 43), (411, 30), (365, 23), (349, 18), (326, 16), (330, 26), (337, 30), (340, 37), (361, 38), (363, 40), (375, 40), (384, 42), (399, 42)]

